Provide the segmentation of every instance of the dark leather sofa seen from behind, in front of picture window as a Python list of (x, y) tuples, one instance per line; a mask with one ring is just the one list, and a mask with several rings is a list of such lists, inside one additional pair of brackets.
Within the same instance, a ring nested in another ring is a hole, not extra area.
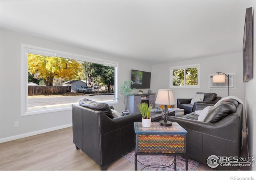
[(100, 170), (134, 148), (134, 122), (142, 121), (140, 113), (114, 118), (110, 107), (88, 99), (72, 104), (73, 142)]

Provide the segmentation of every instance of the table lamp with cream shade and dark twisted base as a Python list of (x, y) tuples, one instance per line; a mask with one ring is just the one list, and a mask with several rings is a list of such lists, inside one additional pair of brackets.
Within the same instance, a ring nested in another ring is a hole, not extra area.
[(162, 111), (162, 120), (159, 121), (159, 124), (161, 126), (172, 126), (172, 122), (168, 121), (169, 111), (167, 108), (167, 105), (176, 104), (172, 90), (170, 89), (158, 90), (155, 103), (164, 105), (164, 109)]

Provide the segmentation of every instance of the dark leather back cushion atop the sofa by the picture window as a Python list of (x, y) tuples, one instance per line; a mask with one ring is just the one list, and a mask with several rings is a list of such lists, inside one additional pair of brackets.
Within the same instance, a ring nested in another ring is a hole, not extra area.
[(82, 99), (82, 100), (79, 101), (79, 105), (83, 106), (83, 107), (86, 107), (86, 108), (90, 108), (92, 110), (102, 111), (108, 117), (114, 118), (112, 110), (110, 109), (110, 107), (106, 103), (95, 102), (95, 101), (88, 100), (88, 99)]

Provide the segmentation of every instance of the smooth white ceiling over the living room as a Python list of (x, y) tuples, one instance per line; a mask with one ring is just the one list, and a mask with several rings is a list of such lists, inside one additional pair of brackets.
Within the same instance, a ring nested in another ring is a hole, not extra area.
[(250, 0), (0, 0), (0, 28), (151, 64), (242, 52)]

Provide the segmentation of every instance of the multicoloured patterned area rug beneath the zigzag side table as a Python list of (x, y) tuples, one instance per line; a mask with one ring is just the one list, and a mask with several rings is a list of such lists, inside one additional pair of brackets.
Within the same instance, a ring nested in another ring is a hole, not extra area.
[[(123, 155), (124, 158), (134, 163), (134, 150)], [(138, 155), (138, 167), (147, 171), (173, 171), (174, 170), (174, 156), (161, 156), (161, 155)], [(188, 158), (188, 170), (194, 171), (198, 167), (199, 162)], [(139, 170), (139, 168), (138, 168)], [(186, 170), (185, 156), (176, 156), (176, 170)]]

